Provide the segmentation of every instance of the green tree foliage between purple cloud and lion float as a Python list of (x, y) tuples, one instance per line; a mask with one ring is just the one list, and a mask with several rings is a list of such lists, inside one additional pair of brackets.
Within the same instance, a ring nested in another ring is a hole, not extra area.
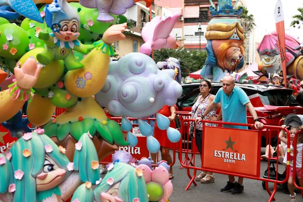
[(178, 49), (165, 49), (154, 51), (154, 61), (163, 62), (167, 58), (173, 57), (180, 59), (181, 76), (186, 77), (189, 73), (198, 71), (203, 68), (207, 58), (206, 51), (186, 51), (183, 47)]

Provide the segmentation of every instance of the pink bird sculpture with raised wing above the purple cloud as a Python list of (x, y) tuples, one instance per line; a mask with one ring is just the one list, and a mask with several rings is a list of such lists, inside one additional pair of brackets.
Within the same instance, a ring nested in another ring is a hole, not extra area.
[(149, 56), (152, 49), (159, 50), (161, 48), (178, 48), (175, 37), (170, 34), (175, 23), (180, 18), (180, 14), (162, 19), (161, 16), (155, 17), (146, 23), (142, 29), (142, 38), (145, 41), (140, 47), (140, 53)]

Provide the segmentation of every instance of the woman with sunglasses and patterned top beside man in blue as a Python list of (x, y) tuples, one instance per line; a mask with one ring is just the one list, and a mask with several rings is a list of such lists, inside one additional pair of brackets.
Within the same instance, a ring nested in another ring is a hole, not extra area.
[[(195, 104), (191, 108), (191, 119), (195, 119), (203, 115), (207, 107), (210, 103), (213, 102), (215, 95), (211, 94), (212, 84), (209, 80), (202, 80), (200, 83), (200, 95), (198, 96)], [(218, 108), (221, 108), (220, 104), (217, 105)], [(221, 111), (216, 117), (217, 108), (211, 111), (205, 118), (207, 120), (218, 121), (221, 119), (222, 114)], [(195, 143), (199, 150), (199, 153), (202, 154), (202, 130), (203, 123), (200, 122), (196, 124), (195, 130)], [(214, 126), (218, 127), (218, 124), (214, 123), (205, 123), (206, 126)], [(213, 183), (215, 182), (215, 177), (212, 172), (202, 172), (195, 178), (196, 181), (200, 181), (201, 183)]]

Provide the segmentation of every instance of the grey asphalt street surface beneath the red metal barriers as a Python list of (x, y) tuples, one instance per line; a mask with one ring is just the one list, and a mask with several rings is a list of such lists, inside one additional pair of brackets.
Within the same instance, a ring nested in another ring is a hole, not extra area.
[[(196, 156), (196, 165), (200, 165), (200, 159)], [(269, 194), (262, 188), (262, 181), (244, 179), (244, 192), (234, 195), (231, 192), (221, 192), (220, 189), (225, 186), (228, 177), (221, 174), (215, 175), (215, 183), (201, 184), (197, 182), (197, 186), (193, 184), (189, 190), (185, 191), (185, 187), (189, 182), (186, 169), (179, 169), (180, 162), (176, 159), (176, 164), (173, 167), (174, 179), (172, 183), (174, 186), (173, 194), (169, 198), (171, 202), (183, 201), (268, 201)], [(267, 169), (267, 162), (261, 161), (260, 176), (263, 176)], [(199, 171), (197, 171), (198, 173)], [(191, 171), (192, 175), (193, 171)], [(279, 173), (283, 173), (283, 166), (279, 166)], [(199, 173), (198, 173), (199, 174)], [(273, 184), (269, 184), (270, 189), (273, 189)], [(297, 201), (303, 201), (300, 191), (295, 190)], [(278, 185), (275, 194), (276, 201), (290, 201), (289, 194), (283, 192), (282, 186)]]

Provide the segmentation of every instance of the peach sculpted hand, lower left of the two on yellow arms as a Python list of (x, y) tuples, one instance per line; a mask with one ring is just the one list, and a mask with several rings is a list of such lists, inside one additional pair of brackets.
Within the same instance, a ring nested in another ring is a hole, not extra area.
[(14, 69), (17, 85), (23, 89), (30, 89), (36, 84), (40, 70), (41, 65), (37, 65), (35, 59), (27, 59), (21, 68)]

